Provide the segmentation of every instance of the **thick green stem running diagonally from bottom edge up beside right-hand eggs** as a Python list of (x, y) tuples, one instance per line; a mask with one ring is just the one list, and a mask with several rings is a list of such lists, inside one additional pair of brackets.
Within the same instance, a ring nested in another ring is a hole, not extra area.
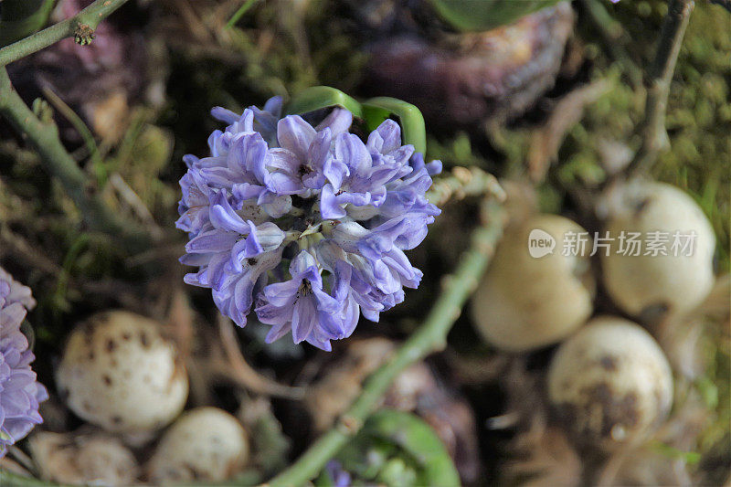
[(369, 376), (363, 392), (337, 424), (317, 439), (287, 470), (267, 482), (268, 487), (303, 485), (323, 470), (324, 464), (361, 429), (376, 409), (394, 379), (409, 365), (444, 348), (451, 325), (477, 287), (503, 233), (503, 210), (496, 203), (487, 206), (484, 226), (474, 230), (471, 247), (462, 255), (454, 275), (445, 281), (444, 291), (429, 312), (426, 322), (398, 349), (397, 354)]

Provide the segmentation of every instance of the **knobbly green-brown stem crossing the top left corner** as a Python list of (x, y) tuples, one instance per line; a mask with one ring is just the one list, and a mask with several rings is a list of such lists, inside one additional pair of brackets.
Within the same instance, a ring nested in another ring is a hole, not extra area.
[(48, 48), (63, 38), (74, 37), (79, 26), (88, 26), (91, 30), (97, 28), (104, 18), (126, 2), (127, 0), (96, 0), (77, 15), (0, 49), (0, 67)]

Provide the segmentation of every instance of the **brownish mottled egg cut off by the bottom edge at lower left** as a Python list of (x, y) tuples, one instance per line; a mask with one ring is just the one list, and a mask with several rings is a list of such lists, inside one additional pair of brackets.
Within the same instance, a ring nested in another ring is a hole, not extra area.
[(130, 485), (140, 472), (132, 451), (105, 434), (42, 431), (30, 438), (30, 449), (41, 476), (54, 482)]

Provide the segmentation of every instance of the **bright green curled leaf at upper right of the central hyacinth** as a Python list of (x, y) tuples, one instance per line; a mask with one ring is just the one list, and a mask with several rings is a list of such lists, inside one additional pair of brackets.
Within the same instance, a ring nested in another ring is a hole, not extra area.
[(410, 143), (418, 153), (426, 153), (427, 129), (421, 111), (411, 103), (396, 98), (378, 97), (364, 101), (363, 118), (368, 130), (376, 127), (389, 116), (396, 115), (401, 125), (404, 143)]

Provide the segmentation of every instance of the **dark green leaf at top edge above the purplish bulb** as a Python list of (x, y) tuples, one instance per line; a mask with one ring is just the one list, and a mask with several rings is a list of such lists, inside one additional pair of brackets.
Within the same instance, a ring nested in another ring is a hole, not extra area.
[(461, 31), (483, 31), (512, 24), (560, 0), (429, 0), (437, 13)]

